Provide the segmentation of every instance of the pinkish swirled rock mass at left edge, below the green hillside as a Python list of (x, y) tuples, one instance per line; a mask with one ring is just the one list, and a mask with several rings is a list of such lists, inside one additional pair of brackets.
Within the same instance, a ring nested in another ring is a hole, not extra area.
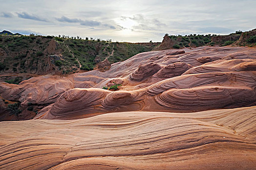
[(74, 88), (73, 79), (60, 76), (40, 76), (19, 85), (0, 83), (0, 95), (10, 101), (47, 105), (55, 102), (65, 91)]

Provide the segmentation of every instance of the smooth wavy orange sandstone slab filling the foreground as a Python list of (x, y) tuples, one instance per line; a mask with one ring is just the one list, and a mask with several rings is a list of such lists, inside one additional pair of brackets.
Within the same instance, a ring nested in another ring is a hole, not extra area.
[(254, 169), (255, 114), (256, 106), (0, 122), (0, 169)]

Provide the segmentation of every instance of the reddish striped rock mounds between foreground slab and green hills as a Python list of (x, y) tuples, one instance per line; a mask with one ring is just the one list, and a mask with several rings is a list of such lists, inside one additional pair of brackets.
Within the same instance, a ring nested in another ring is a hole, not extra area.
[[(121, 84), (118, 88), (123, 91), (102, 89), (114, 83)], [(0, 83), (0, 87), (1, 97), (21, 102), (24, 110), (28, 103), (40, 106), (35, 119), (252, 106), (256, 104), (256, 49), (200, 47), (144, 52), (113, 64), (105, 72), (40, 76), (20, 85)], [(70, 101), (64, 96), (73, 98)], [(94, 99), (97, 102), (92, 102)]]

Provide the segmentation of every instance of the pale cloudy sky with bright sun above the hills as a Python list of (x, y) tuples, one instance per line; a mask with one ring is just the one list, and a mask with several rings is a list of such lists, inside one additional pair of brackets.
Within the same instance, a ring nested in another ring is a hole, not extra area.
[(256, 0), (0, 0), (0, 32), (161, 42), (256, 28)]

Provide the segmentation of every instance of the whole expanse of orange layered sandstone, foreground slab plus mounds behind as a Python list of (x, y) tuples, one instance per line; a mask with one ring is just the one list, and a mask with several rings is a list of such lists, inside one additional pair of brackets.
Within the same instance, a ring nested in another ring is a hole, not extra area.
[(143, 52), (105, 72), (0, 82), (0, 96), (22, 108), (6, 121), (17, 116), (0, 100), (0, 169), (256, 167), (255, 47)]

